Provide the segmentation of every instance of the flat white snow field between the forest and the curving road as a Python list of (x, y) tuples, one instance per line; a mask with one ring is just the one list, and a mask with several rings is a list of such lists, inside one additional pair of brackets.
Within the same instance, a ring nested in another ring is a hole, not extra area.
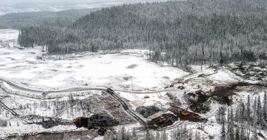
[[(0, 31), (0, 38), (14, 39), (17, 31)], [(0, 48), (0, 77), (37, 87), (88, 85), (131, 89), (154, 89), (187, 72), (161, 67), (142, 55), (88, 53), (71, 60), (36, 59), (40, 48)]]

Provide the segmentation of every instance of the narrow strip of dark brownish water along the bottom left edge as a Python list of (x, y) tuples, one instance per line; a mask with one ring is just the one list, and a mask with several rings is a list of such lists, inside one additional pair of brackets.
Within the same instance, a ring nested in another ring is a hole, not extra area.
[(65, 140), (65, 139), (90, 139), (97, 137), (97, 133), (93, 130), (84, 132), (58, 132), (53, 134), (36, 134), (36, 135), (23, 135), (23, 136), (10, 136), (5, 140)]

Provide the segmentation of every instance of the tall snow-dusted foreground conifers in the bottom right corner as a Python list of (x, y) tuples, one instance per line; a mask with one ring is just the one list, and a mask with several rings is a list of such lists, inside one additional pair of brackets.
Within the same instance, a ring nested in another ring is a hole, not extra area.
[(222, 140), (259, 139), (258, 130), (267, 130), (267, 94), (263, 102), (259, 96), (255, 99), (248, 96), (245, 102), (240, 100), (237, 107), (220, 107), (217, 120), (223, 126)]

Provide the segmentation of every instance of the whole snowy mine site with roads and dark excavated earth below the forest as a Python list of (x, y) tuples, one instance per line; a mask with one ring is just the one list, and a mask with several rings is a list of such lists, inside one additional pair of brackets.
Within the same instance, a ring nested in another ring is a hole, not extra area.
[[(48, 56), (42, 48), (16, 47), (17, 36), (16, 30), (0, 33), (1, 46), (10, 45), (0, 48), (4, 139), (97, 139), (121, 126), (137, 135), (186, 127), (219, 139), (220, 107), (236, 109), (249, 95), (266, 95), (266, 66), (186, 72), (147, 60), (146, 50)], [(266, 139), (266, 130), (259, 134)]]

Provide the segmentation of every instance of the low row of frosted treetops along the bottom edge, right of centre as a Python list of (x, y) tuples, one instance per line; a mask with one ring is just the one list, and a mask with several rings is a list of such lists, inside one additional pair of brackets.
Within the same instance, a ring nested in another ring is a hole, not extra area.
[(202, 140), (205, 139), (203, 135), (199, 132), (192, 132), (192, 130), (188, 130), (186, 126), (177, 126), (170, 134), (167, 134), (164, 130), (163, 132), (160, 131), (151, 131), (147, 130), (147, 132), (137, 133), (135, 128), (133, 130), (125, 130), (123, 126), (118, 130), (118, 132), (107, 131), (103, 137), (104, 140)]

